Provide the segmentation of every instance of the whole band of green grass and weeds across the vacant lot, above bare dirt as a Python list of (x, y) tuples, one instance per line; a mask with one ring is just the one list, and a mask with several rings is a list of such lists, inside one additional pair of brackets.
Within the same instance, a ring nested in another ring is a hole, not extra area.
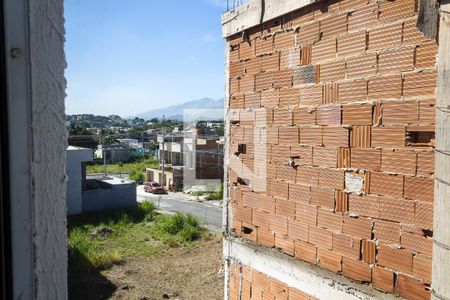
[(168, 247), (207, 237), (190, 215), (159, 215), (149, 201), (130, 210), (68, 218), (69, 268), (105, 270), (130, 257), (151, 256)]

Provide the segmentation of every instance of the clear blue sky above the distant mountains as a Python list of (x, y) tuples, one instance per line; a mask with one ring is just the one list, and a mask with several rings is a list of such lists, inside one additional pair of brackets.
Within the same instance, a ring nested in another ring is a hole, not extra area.
[(225, 6), (226, 0), (65, 0), (66, 113), (129, 117), (222, 98)]

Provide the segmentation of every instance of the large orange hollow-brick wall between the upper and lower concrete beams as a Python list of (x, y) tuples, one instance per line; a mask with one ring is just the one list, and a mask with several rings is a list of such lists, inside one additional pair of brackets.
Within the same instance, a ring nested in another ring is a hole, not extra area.
[(430, 297), (437, 43), (418, 9), (320, 1), (228, 38), (230, 236)]

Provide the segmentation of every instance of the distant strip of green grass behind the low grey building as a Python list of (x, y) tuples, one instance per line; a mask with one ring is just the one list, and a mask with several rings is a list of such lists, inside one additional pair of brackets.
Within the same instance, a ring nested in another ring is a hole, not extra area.
[[(155, 157), (150, 157), (146, 159), (141, 158), (135, 162), (130, 163), (107, 164), (106, 171), (113, 174), (127, 173), (131, 175), (132, 172), (134, 172), (134, 174), (143, 173), (145, 172), (145, 168), (158, 168), (158, 167), (159, 167), (159, 160)], [(86, 173), (88, 174), (96, 174), (103, 172), (104, 172), (103, 164), (86, 166)]]

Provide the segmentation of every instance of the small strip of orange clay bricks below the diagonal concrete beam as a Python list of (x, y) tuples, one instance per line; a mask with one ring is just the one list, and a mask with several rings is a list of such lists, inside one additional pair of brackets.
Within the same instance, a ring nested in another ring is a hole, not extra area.
[(229, 299), (314, 300), (285, 283), (237, 263), (231, 265)]

